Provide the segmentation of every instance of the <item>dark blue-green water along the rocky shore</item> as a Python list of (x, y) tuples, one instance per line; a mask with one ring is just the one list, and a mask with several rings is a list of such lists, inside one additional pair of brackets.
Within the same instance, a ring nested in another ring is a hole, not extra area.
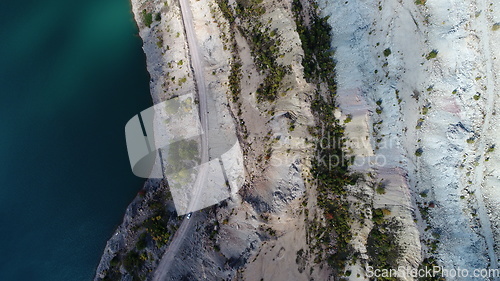
[(91, 280), (143, 180), (124, 125), (151, 105), (128, 0), (0, 4), (0, 280)]

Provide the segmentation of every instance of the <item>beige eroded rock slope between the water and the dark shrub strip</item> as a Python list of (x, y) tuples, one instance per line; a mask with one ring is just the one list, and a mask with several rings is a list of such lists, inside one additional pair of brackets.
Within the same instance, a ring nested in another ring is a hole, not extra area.
[[(256, 100), (256, 91), (269, 74), (255, 63), (257, 54), (249, 45), (254, 44), (250, 40), (251, 34), (242, 34), (232, 26), (215, 1), (192, 1), (190, 5), (204, 61), (209, 120), (221, 128), (219, 132), (211, 130), (209, 133), (217, 133), (213, 139), (225, 138), (224, 130), (237, 133), (243, 148), (245, 161), (242, 164), (246, 181), (241, 192), (230, 190), (229, 201), (202, 211), (202, 218), (191, 219), (195, 220), (196, 231), (191, 231), (180, 246), (177, 252), (179, 258), (173, 262), (167, 276), (173, 280), (200, 279), (202, 276), (268, 276), (272, 272), (260, 271), (252, 266), (248, 269), (247, 265), (262, 263), (264, 260), (261, 257), (266, 255), (264, 252), (272, 252), (276, 243), (282, 245), (276, 253), (282, 263), (280, 267), (283, 270), (293, 268), (295, 253), (307, 250), (304, 215), (297, 210), (297, 206), (306, 192), (303, 173), (308, 168), (307, 161), (302, 159), (307, 159), (311, 148), (306, 142), (307, 125), (314, 122), (307, 101), (308, 91), (313, 87), (303, 78), (300, 62), (302, 49), (290, 5), (263, 3), (262, 6), (269, 12), (258, 18), (268, 29), (272, 28), (274, 36), (282, 42), (276, 46), (282, 55), (275, 59), (289, 69), (280, 85), (282, 91), (273, 102)], [(133, 11), (144, 40), (153, 100), (159, 103), (190, 91), (196, 92), (196, 77), (190, 67), (193, 58), (189, 54), (178, 4), (175, 1), (133, 1)], [(149, 14), (154, 19), (152, 22), (145, 20)], [(238, 82), (241, 91), (237, 101), (232, 96), (234, 89), (230, 88), (232, 66), (236, 63), (241, 67)], [(296, 124), (296, 129), (290, 130), (290, 124)], [(216, 154), (216, 150), (217, 147), (211, 153)], [(226, 161), (229, 171), (235, 166), (232, 160), (234, 157)], [(148, 205), (152, 190), (146, 188), (147, 196), (136, 200)], [(131, 206), (131, 209), (134, 207)], [(154, 268), (168, 245), (159, 246), (148, 239), (148, 247), (140, 251), (152, 256), (140, 265), (142, 269), (153, 269), (150, 274), (145, 274), (144, 270), (131, 273), (123, 264), (127, 253), (136, 251), (135, 244), (140, 240), (141, 233), (148, 232), (141, 226), (147, 223), (147, 217), (141, 220), (133, 212), (126, 214), (118, 234), (108, 243), (97, 279), (104, 278), (108, 271), (120, 272), (125, 280), (133, 275), (153, 278)], [(131, 220), (135, 221), (135, 228)], [(169, 229), (175, 230), (178, 223), (172, 221), (167, 224)], [(269, 245), (269, 249), (264, 251), (263, 245)], [(111, 260), (118, 255), (120, 262), (114, 266), (115, 269), (109, 270), (110, 264), (116, 264)], [(302, 273), (303, 276), (299, 277)], [(293, 274), (297, 275), (296, 280), (306, 280), (310, 272), (306, 274), (302, 269)]]

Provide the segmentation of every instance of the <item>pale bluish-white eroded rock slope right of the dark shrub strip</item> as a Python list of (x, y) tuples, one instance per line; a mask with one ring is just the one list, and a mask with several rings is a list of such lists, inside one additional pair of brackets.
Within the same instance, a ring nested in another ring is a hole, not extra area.
[(498, 139), (499, 6), (438, 2), (320, 1), (333, 27), (338, 100), (353, 129), (362, 116), (374, 156), (386, 160), (376, 204), (415, 214), (418, 232), (401, 236), (415, 247), (407, 262), (419, 261), (419, 234), (424, 257), (440, 266), (497, 268), (499, 162), (488, 147)]

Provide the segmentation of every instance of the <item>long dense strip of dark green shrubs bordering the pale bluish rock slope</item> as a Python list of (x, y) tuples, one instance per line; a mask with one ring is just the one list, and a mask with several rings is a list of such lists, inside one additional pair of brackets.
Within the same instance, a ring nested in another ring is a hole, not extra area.
[[(326, 258), (328, 264), (342, 275), (346, 261), (353, 255), (347, 185), (354, 184), (359, 176), (348, 172), (350, 159), (346, 159), (343, 153), (344, 127), (334, 116), (336, 83), (330, 48), (331, 28), (328, 18), (320, 18), (314, 11), (306, 15), (307, 10), (298, 0), (292, 2), (292, 11), (304, 49), (304, 75), (307, 81), (318, 85), (311, 103), (317, 125), (310, 127), (309, 132), (317, 139), (328, 136), (333, 143), (317, 144), (316, 155), (311, 160), (311, 174), (317, 186), (317, 205), (323, 210), (326, 222), (323, 225), (310, 221), (309, 236), (315, 241), (312, 249), (319, 250), (316, 262)], [(305, 25), (305, 17), (311, 20), (309, 26)], [(320, 84), (325, 87), (319, 87)], [(328, 89), (328, 92), (320, 90), (322, 88)]]

